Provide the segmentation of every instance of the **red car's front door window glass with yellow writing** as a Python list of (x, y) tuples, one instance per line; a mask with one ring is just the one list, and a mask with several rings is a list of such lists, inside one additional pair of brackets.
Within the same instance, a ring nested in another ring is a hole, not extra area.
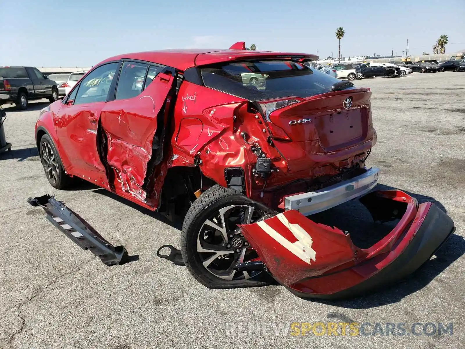
[(106, 101), (118, 63), (109, 63), (90, 72), (80, 83), (74, 104)]

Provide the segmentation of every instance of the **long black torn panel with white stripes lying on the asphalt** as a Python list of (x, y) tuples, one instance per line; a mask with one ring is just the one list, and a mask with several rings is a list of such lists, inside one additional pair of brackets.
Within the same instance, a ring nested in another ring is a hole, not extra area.
[(124, 246), (114, 247), (97, 233), (86, 221), (57, 201), (53, 196), (42, 195), (27, 199), (32, 206), (40, 206), (47, 214), (47, 219), (63, 234), (69, 237), (83, 250), (90, 250), (107, 266), (124, 264), (134, 260), (128, 258)]

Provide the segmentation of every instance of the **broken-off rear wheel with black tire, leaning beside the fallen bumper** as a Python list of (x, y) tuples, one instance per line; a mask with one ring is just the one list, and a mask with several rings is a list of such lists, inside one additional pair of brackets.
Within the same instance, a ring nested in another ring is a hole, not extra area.
[[(235, 218), (244, 222), (251, 208), (251, 221), (276, 214), (238, 191), (219, 185), (202, 193), (187, 211), (181, 233), (181, 254), (189, 273), (202, 285), (209, 289), (230, 289), (265, 286), (272, 281), (271, 276), (263, 271), (248, 274), (232, 269), (241, 257), (246, 261), (258, 256), (253, 249), (246, 247), (248, 242), (234, 224)], [(223, 225), (225, 221), (228, 225)], [(213, 228), (212, 224), (219, 229)], [(206, 262), (209, 263), (204, 266)]]

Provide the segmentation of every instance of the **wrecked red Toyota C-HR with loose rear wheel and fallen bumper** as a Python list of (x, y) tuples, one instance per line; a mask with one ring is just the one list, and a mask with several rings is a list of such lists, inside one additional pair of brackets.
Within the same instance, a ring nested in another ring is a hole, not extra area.
[[(182, 261), (209, 288), (272, 277), (299, 296), (338, 298), (398, 280), (454, 224), (430, 202), (370, 192), (370, 89), (320, 73), (317, 59), (239, 42), (104, 60), (40, 111), (46, 177), (184, 217)], [(398, 221), (371, 247), (307, 218), (357, 198), (374, 220)]]

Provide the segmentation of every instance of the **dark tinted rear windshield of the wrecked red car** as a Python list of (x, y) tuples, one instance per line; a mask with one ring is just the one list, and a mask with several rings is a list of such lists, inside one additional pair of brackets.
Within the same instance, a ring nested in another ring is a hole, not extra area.
[(205, 86), (249, 101), (310, 97), (331, 91), (338, 79), (298, 62), (254, 60), (201, 68)]

